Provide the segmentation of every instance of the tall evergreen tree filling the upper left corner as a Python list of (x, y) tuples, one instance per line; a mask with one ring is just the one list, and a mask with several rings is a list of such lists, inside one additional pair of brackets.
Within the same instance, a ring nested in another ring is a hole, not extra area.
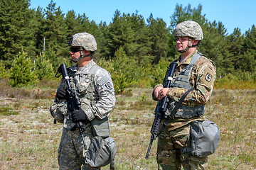
[(28, 6), (29, 0), (1, 0), (0, 3), (0, 59), (8, 68), (22, 48), (31, 56), (36, 55), (33, 10)]

